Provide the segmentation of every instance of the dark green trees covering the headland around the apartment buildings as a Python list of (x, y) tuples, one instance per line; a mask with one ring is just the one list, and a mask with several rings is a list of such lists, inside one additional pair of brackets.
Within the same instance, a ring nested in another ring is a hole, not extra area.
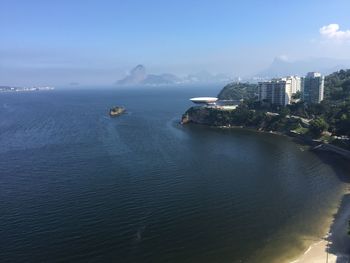
[[(249, 83), (233, 83), (225, 86), (218, 97), (221, 100), (244, 101), (236, 110), (193, 107), (185, 113), (189, 121), (215, 126), (245, 126), (259, 130), (294, 131), (312, 138), (327, 133), (327, 140), (334, 136), (350, 136), (350, 70), (340, 70), (325, 78), (325, 99), (319, 104), (303, 101), (286, 107), (257, 101), (258, 87)], [(349, 142), (350, 144), (350, 142)]]

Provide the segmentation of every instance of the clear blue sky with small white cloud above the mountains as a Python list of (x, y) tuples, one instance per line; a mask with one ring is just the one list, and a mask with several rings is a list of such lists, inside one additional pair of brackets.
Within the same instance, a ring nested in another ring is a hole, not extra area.
[(350, 59), (349, 0), (0, 0), (0, 85), (111, 84), (132, 67), (249, 76)]

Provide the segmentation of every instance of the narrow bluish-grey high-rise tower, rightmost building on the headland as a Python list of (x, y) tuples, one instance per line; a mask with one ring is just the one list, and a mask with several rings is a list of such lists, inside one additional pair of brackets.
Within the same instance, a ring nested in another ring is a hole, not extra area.
[(324, 76), (318, 72), (309, 72), (302, 79), (303, 100), (306, 103), (320, 103), (324, 96)]

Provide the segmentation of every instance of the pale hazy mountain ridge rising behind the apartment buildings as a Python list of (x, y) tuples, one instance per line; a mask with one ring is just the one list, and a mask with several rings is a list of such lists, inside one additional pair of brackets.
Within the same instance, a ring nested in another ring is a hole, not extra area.
[(317, 71), (328, 75), (340, 69), (350, 68), (350, 60), (332, 58), (310, 58), (306, 60), (289, 61), (275, 58), (271, 65), (254, 77), (274, 78), (287, 75), (303, 76), (307, 72)]

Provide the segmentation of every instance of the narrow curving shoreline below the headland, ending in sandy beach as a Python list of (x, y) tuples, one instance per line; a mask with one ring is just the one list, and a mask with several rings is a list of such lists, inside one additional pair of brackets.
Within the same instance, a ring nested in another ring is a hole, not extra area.
[[(198, 125), (199, 123), (194, 123)], [(208, 126), (206, 124), (200, 124)], [(278, 136), (288, 137), (297, 144), (309, 146), (309, 150), (313, 151), (324, 163), (330, 165), (339, 177), (340, 181), (345, 184), (350, 184), (350, 163), (348, 157), (340, 155), (333, 151), (319, 149), (320, 145), (325, 145), (322, 142), (315, 142), (304, 138), (303, 136), (293, 136), (294, 134), (286, 134), (275, 131), (259, 130), (255, 127), (245, 126), (213, 126), (217, 129), (245, 129), (247, 131), (274, 134)], [(336, 153), (336, 154), (334, 154)], [(296, 259), (286, 261), (287, 263), (349, 263), (350, 262), (350, 235), (347, 235), (349, 220), (350, 220), (350, 188), (346, 191), (339, 205), (333, 214), (330, 224), (328, 224), (327, 234), (312, 243), (304, 250)]]

